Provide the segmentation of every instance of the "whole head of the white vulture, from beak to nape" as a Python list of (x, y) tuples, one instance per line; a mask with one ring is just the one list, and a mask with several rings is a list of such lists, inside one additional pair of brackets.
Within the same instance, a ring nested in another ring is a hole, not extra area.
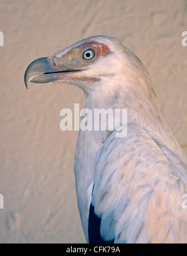
[[(24, 81), (69, 82), (94, 94), (98, 100), (137, 102), (154, 97), (145, 66), (132, 51), (110, 36), (93, 36), (76, 42), (54, 56), (42, 57), (27, 67)], [(96, 93), (94, 93), (96, 92)]]

